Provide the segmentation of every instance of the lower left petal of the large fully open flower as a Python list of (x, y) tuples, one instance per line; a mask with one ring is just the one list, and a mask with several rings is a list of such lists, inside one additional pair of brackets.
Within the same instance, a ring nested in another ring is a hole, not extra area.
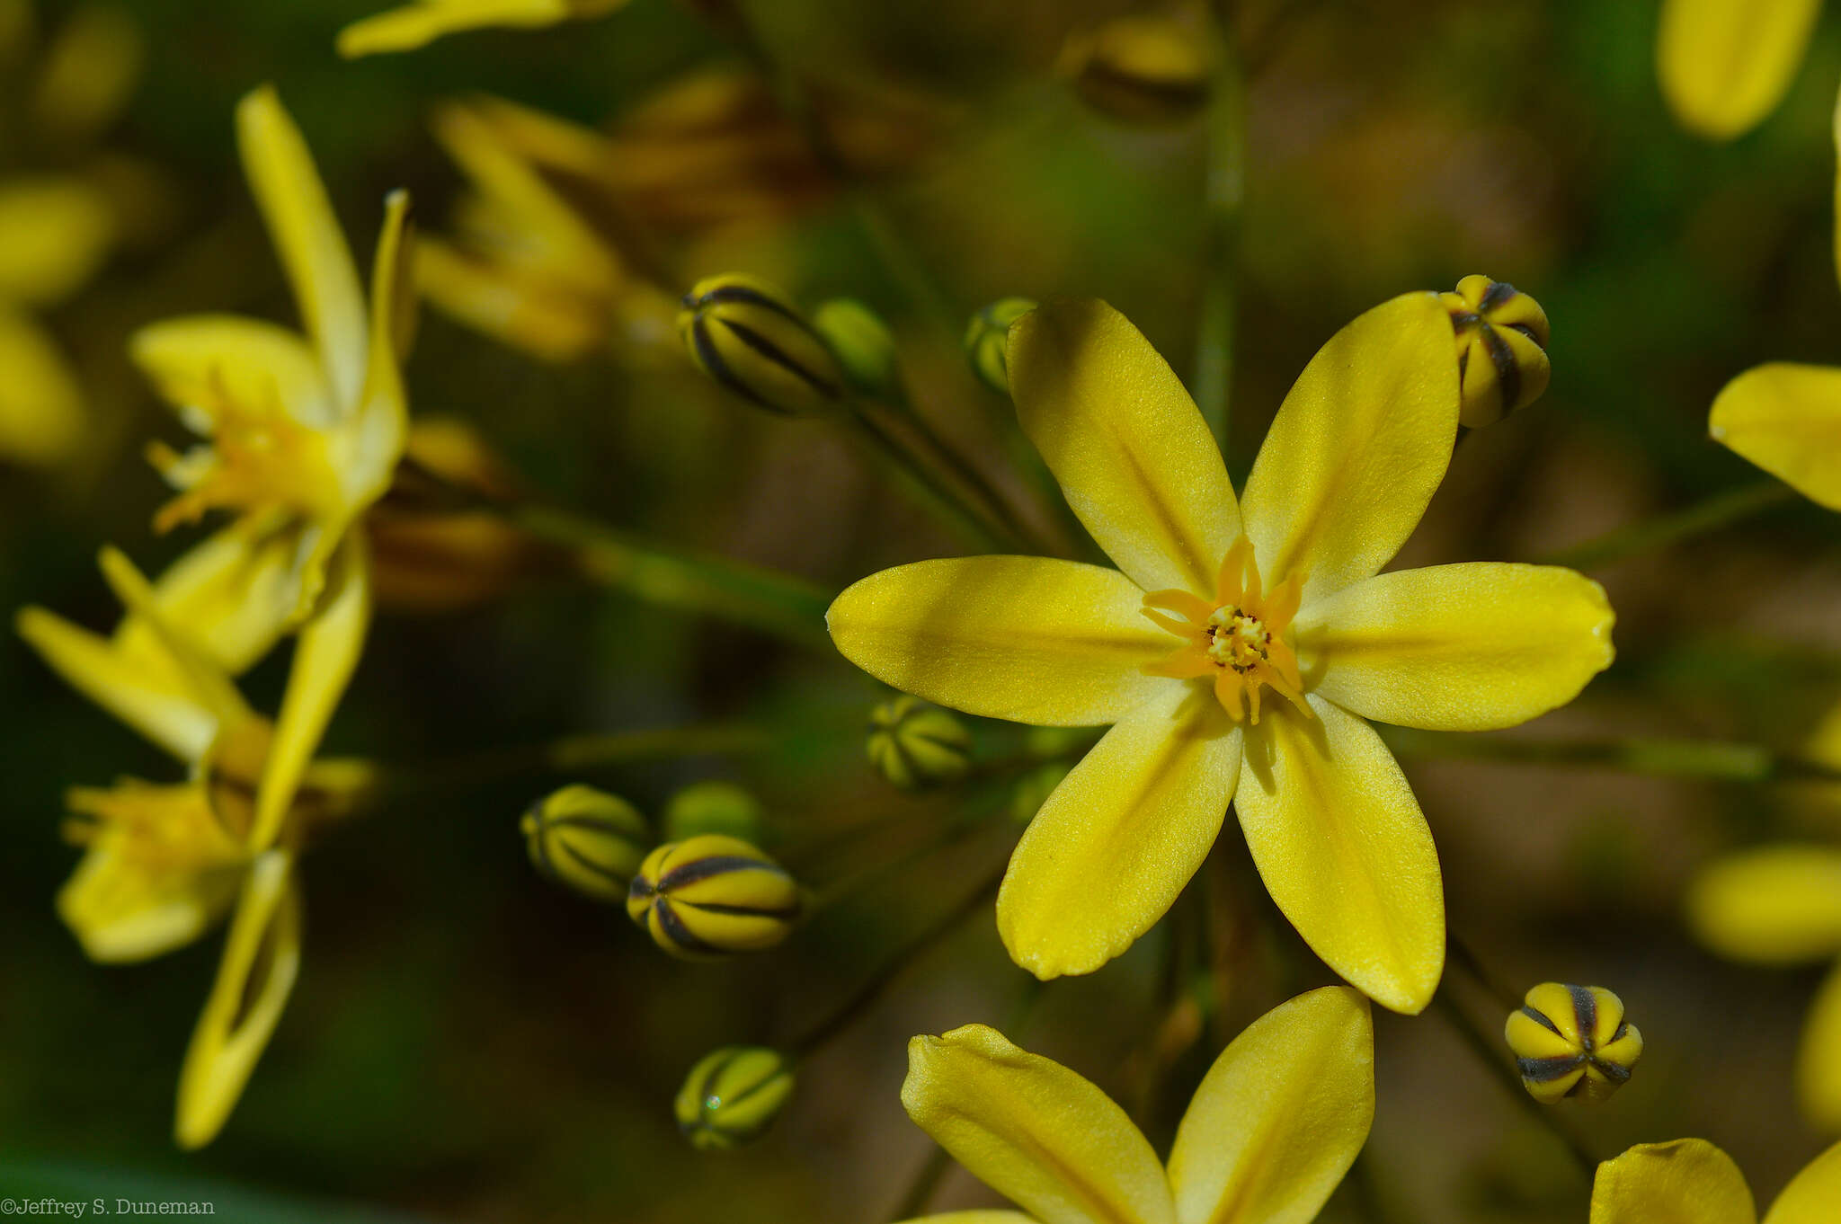
[(1162, 681), (1048, 797), (1003, 874), (998, 933), (1049, 979), (1090, 974), (1149, 931), (1221, 834), (1241, 731), (1198, 687)]

